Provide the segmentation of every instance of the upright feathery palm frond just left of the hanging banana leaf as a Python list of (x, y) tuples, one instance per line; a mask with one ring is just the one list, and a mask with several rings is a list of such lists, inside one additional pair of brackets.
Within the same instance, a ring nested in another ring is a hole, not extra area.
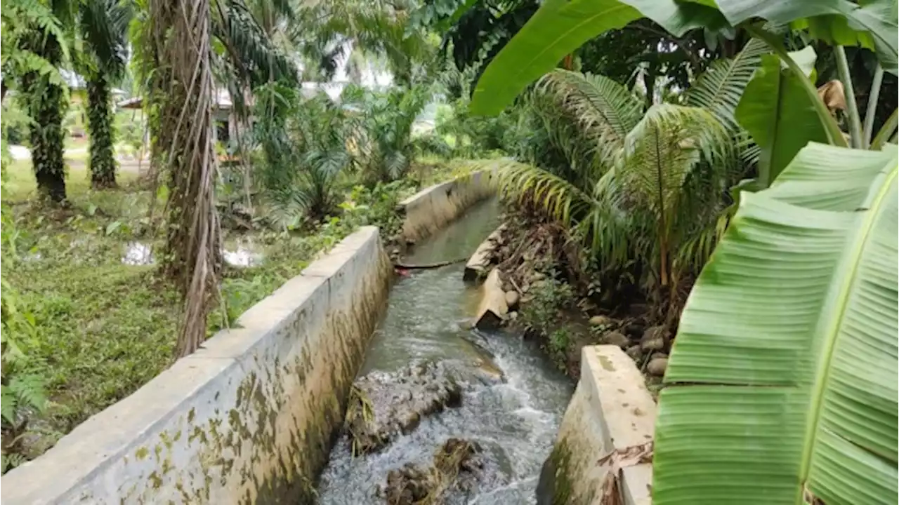
[(761, 65), (761, 55), (769, 52), (767, 43), (752, 39), (734, 58), (717, 60), (687, 90), (687, 105), (704, 108), (725, 128), (739, 131), (740, 127), (734, 120), (737, 103), (752, 80), (755, 69)]

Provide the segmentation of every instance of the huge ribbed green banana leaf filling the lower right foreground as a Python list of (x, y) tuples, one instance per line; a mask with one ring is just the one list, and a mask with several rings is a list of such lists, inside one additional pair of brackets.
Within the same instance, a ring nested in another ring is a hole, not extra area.
[(654, 505), (899, 503), (899, 148), (743, 193), (664, 382)]

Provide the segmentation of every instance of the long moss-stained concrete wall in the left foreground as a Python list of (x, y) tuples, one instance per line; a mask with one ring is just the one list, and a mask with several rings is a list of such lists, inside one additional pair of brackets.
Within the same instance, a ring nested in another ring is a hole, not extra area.
[(391, 272), (377, 228), (350, 235), (239, 329), (0, 478), (0, 502), (311, 503)]

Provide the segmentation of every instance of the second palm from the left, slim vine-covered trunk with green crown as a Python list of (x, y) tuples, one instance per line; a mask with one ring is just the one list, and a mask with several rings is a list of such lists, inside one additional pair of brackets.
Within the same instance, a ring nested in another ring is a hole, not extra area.
[(85, 0), (78, 29), (85, 42), (79, 67), (87, 87), (91, 183), (95, 189), (115, 187), (115, 131), (111, 86), (126, 68), (128, 27), (134, 10), (129, 0)]

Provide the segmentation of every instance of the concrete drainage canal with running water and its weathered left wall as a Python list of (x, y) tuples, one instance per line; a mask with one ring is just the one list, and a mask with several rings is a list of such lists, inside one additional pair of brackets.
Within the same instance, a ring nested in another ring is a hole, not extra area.
[[(378, 229), (360, 228), (233, 328), (0, 477), (0, 502), (535, 503), (547, 457), (579, 461), (556, 457), (557, 432), (595, 435), (562, 440), (590, 448), (584, 465), (556, 465), (595, 487), (587, 460), (605, 435), (584, 430), (584, 415), (563, 418), (568, 380), (518, 335), (467, 329), (485, 303), (505, 308), (486, 288), (494, 273), (467, 286), (453, 262), (496, 225), (490, 178), (401, 203), (404, 237), (417, 241), (404, 261), (450, 264), (397, 276)], [(595, 412), (594, 389), (579, 385), (568, 411)]]

